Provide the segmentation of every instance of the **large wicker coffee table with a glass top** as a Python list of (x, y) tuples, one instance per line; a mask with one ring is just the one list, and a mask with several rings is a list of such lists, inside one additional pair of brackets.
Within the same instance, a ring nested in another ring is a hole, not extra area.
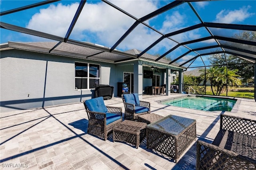
[(168, 115), (147, 125), (147, 147), (175, 159), (196, 139), (196, 120)]

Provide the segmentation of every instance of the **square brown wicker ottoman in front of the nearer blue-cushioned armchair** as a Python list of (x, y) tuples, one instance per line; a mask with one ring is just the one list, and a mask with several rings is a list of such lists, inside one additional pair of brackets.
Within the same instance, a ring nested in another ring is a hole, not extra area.
[(146, 137), (146, 126), (146, 123), (125, 120), (113, 127), (113, 142), (127, 142), (138, 149), (140, 142)]

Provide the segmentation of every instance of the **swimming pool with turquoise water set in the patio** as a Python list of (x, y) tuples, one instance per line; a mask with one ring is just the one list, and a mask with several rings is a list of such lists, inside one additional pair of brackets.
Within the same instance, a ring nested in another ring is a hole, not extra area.
[(161, 102), (164, 105), (185, 107), (204, 111), (231, 111), (236, 100), (212, 97), (184, 97)]

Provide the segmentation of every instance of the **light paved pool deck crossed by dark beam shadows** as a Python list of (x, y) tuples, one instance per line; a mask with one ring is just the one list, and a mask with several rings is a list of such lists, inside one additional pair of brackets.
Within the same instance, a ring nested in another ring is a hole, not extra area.
[[(256, 119), (256, 102), (238, 99), (232, 111), (200, 111), (160, 103), (182, 94), (145, 95), (151, 112), (162, 116), (178, 115), (196, 119), (197, 139), (209, 143), (220, 126), (220, 114)], [(104, 100), (106, 106), (122, 107), (122, 98)], [(192, 170), (196, 165), (196, 141), (178, 163), (143, 141), (136, 149), (126, 143), (107, 141), (87, 134), (88, 117), (82, 103), (1, 113), (0, 169), (94, 169), (94, 170)]]

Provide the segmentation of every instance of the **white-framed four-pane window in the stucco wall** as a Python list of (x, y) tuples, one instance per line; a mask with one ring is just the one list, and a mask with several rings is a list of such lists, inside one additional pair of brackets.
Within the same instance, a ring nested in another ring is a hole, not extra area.
[(75, 63), (75, 89), (91, 89), (100, 84), (100, 64)]

